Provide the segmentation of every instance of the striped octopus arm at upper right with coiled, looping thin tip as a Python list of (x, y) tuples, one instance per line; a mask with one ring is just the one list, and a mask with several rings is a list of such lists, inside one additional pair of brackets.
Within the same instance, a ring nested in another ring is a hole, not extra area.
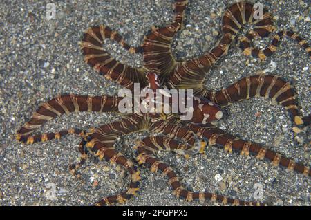
[[(200, 57), (176, 64), (176, 68), (168, 74), (170, 86), (200, 90), (203, 87), (202, 83), (205, 73), (209, 71), (211, 66), (213, 66), (220, 57), (227, 53), (229, 46), (245, 24), (254, 24), (254, 29), (250, 30), (247, 35), (239, 39), (241, 42), (240, 47), (245, 55), (252, 55), (255, 58), (265, 59), (276, 51), (282, 37), (287, 36), (295, 39), (296, 42), (307, 51), (308, 55), (311, 56), (310, 46), (305, 39), (290, 30), (283, 30), (277, 33), (274, 39), (272, 39), (272, 44), (263, 50), (252, 47), (252, 39), (267, 37), (275, 30), (275, 27), (272, 24), (272, 16), (270, 13), (264, 12), (262, 19), (255, 19), (253, 5), (240, 2), (230, 6), (226, 10), (223, 16), (223, 36), (216, 46)], [(189, 79), (191, 79), (191, 81), (189, 81)]]

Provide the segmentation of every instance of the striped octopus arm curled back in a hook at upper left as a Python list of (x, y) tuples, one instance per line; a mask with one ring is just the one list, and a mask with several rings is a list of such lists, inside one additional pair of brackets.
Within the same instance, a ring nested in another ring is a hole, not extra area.
[(104, 75), (106, 79), (113, 80), (129, 89), (133, 89), (134, 83), (147, 86), (144, 68), (126, 66), (111, 57), (104, 48), (104, 39), (113, 39), (130, 53), (142, 52), (142, 47), (133, 48), (124, 42), (124, 39), (116, 31), (107, 26), (95, 26), (88, 28), (80, 44), (84, 61), (92, 66), (95, 71)]

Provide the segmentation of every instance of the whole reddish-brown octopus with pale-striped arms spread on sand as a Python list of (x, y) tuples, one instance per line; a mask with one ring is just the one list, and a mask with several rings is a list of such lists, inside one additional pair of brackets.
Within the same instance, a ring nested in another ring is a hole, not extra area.
[[(151, 172), (162, 172), (164, 176), (167, 176), (173, 194), (189, 202), (211, 200), (223, 205), (265, 205), (261, 201), (242, 201), (214, 192), (187, 190), (173, 167), (157, 158), (158, 151), (175, 152), (189, 158), (195, 154), (204, 154), (207, 145), (217, 145), (223, 147), (229, 154), (235, 152), (243, 156), (252, 156), (258, 160), (265, 160), (273, 166), (285, 167), (289, 172), (300, 173), (305, 178), (311, 176), (310, 167), (297, 163), (268, 147), (228, 134), (214, 123), (223, 118), (223, 107), (249, 98), (263, 97), (275, 100), (288, 109), (294, 133), (304, 132), (310, 125), (310, 116), (300, 115), (296, 95), (289, 82), (285, 82), (276, 75), (261, 73), (244, 77), (219, 91), (205, 89), (204, 84), (205, 73), (220, 57), (228, 53), (232, 42), (247, 24), (252, 24), (254, 28), (238, 41), (243, 53), (256, 59), (264, 60), (273, 55), (284, 37), (294, 39), (310, 56), (311, 50), (308, 42), (290, 30), (282, 30), (275, 33), (269, 46), (263, 50), (256, 48), (253, 44), (254, 39), (267, 37), (276, 30), (272, 23), (272, 15), (263, 11), (263, 15), (258, 18), (255, 16), (254, 6), (241, 1), (225, 10), (221, 24), (222, 35), (214, 48), (194, 59), (178, 61), (171, 53), (171, 44), (173, 37), (183, 28), (186, 7), (187, 0), (175, 0), (171, 24), (158, 28), (153, 26), (150, 33), (144, 37), (141, 46), (138, 47), (130, 46), (119, 33), (104, 25), (88, 28), (83, 35), (80, 46), (87, 64), (106, 79), (120, 84), (128, 91), (133, 92), (135, 85), (139, 85), (138, 91), (144, 95), (131, 99), (119, 95), (93, 97), (75, 94), (59, 95), (41, 104), (32, 118), (17, 131), (17, 140), (25, 144), (59, 139), (67, 134), (77, 134), (82, 138), (79, 144), (81, 158), (78, 163), (69, 166), (70, 172), (77, 177), (79, 177), (78, 169), (82, 167), (88, 156), (95, 156), (113, 165), (124, 167), (131, 179), (129, 186), (118, 194), (106, 196), (96, 205), (125, 203), (131, 197), (137, 196), (141, 181), (137, 164), (144, 165)], [(117, 42), (129, 53), (141, 53), (143, 65), (135, 68), (118, 62), (104, 50), (105, 39)], [(177, 101), (169, 89), (178, 91)], [(180, 95), (179, 91), (182, 90), (191, 90), (193, 93)], [(156, 109), (147, 109), (147, 111), (135, 109), (135, 104), (148, 107), (149, 104), (157, 102), (154, 95), (161, 99), (167, 98), (167, 102), (165, 104), (160, 102)], [(184, 109), (174, 112), (165, 111), (165, 109), (172, 110), (180, 102), (185, 104)], [(121, 112), (120, 107), (126, 108), (126, 111)], [(62, 114), (79, 111), (119, 113), (122, 119), (86, 131), (68, 129), (33, 134), (48, 120)], [(191, 114), (190, 118), (186, 117), (187, 113)], [(151, 134), (157, 135), (149, 135), (135, 143), (137, 157), (136, 162), (133, 162), (118, 152), (114, 145), (115, 140), (120, 136), (138, 131), (150, 131)]]

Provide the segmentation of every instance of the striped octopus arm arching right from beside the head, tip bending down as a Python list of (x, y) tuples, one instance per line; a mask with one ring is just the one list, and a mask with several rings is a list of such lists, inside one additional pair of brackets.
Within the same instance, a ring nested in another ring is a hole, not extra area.
[[(252, 75), (220, 91), (202, 90), (198, 95), (220, 106), (254, 97), (271, 98), (290, 111), (295, 126), (310, 125), (310, 116), (303, 118), (299, 114), (296, 95), (290, 83), (276, 75)], [(298, 127), (294, 128), (295, 132), (300, 131)]]

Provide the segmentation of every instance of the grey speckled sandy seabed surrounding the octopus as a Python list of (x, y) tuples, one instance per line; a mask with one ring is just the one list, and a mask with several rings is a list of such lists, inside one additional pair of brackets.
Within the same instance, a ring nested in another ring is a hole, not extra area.
[[(82, 172), (84, 182), (77, 181), (68, 172), (68, 165), (78, 159), (79, 138), (68, 136), (62, 140), (22, 145), (14, 140), (15, 131), (30, 119), (40, 102), (56, 95), (117, 93), (120, 86), (100, 77), (84, 64), (78, 46), (82, 32), (88, 26), (105, 24), (120, 32), (127, 42), (138, 46), (152, 25), (169, 24), (173, 17), (173, 1), (57, 1), (56, 19), (50, 21), (46, 20), (48, 1), (26, 2), (0, 3), (0, 205), (90, 205), (126, 188), (129, 180), (120, 167), (92, 160)], [(176, 57), (196, 57), (216, 44), (222, 14), (233, 2), (191, 0), (187, 25), (173, 46)], [(307, 0), (260, 2), (273, 13), (278, 30), (292, 28), (305, 39), (311, 39)], [(257, 43), (265, 46), (270, 41), (271, 37)], [(141, 55), (130, 55), (110, 41), (107, 44), (116, 59), (133, 66), (142, 64)], [(245, 57), (238, 44), (233, 44), (229, 54), (207, 74), (205, 86), (220, 89), (267, 68), (269, 74), (280, 75), (293, 84), (301, 112), (308, 115), (310, 58), (291, 39), (284, 39), (281, 48), (265, 62)], [(218, 122), (222, 129), (310, 165), (308, 137), (294, 138), (292, 123), (284, 108), (270, 100), (256, 98), (232, 104), (225, 111), (227, 115)], [(87, 129), (116, 119), (106, 113), (72, 113), (46, 123), (39, 131)], [(135, 140), (146, 135), (122, 137), (116, 148), (133, 159)], [(311, 204), (308, 178), (256, 158), (227, 154), (215, 147), (207, 148), (206, 156), (192, 156), (188, 161), (169, 152), (161, 152), (159, 156), (176, 169), (182, 183), (191, 190), (209, 190), (253, 200), (254, 185), (261, 183), (261, 201), (265, 203)], [(144, 167), (140, 167), (140, 171), (140, 194), (126, 205), (201, 205), (173, 196), (167, 179), (160, 174), (152, 174)], [(98, 181), (97, 186), (93, 186), (94, 181)], [(55, 186), (54, 199), (50, 185)]]

